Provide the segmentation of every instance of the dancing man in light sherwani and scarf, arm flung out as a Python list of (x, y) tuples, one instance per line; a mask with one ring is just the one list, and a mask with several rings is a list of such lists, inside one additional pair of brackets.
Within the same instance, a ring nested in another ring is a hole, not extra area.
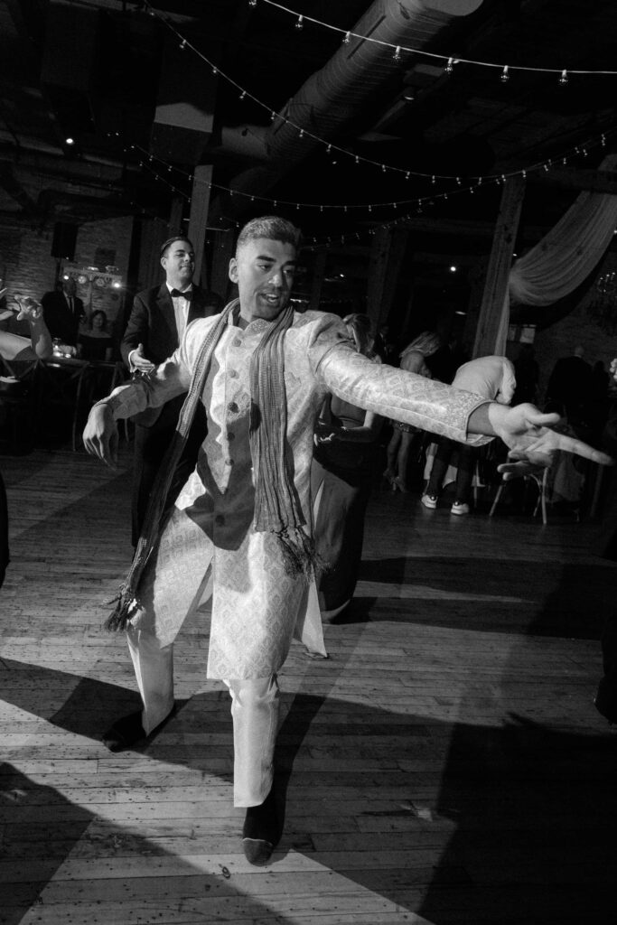
[[(177, 436), (151, 501), (110, 628), (126, 629), (143, 709), (118, 721), (119, 750), (154, 734), (174, 709), (174, 638), (212, 591), (207, 675), (231, 694), (234, 803), (246, 808), (244, 853), (265, 864), (279, 836), (273, 787), (277, 673), (291, 638), (311, 637), (317, 613), (310, 473), (315, 420), (328, 393), (445, 434), (512, 450), (509, 474), (549, 462), (554, 450), (596, 462), (609, 457), (549, 430), (556, 415), (507, 408), (481, 396), (374, 364), (355, 350), (339, 317), (296, 314), (290, 304), (300, 233), (268, 216), (242, 228), (229, 277), (239, 298), (197, 320), (152, 374), (115, 389), (91, 412), (86, 449), (108, 464), (118, 419), (158, 407), (188, 389)], [(202, 404), (207, 435), (171, 512), (165, 494)], [(474, 436), (478, 435), (478, 436)], [(312, 597), (313, 596), (313, 597)], [(323, 641), (321, 643), (323, 647)]]

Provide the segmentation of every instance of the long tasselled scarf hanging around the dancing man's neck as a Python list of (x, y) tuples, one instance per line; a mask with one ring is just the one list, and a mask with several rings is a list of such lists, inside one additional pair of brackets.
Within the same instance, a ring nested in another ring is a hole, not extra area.
[[(238, 304), (238, 299), (229, 302), (216, 324), (210, 328), (197, 355), (191, 386), (179, 413), (173, 441), (154, 482), (129, 573), (114, 601), (116, 607), (105, 623), (109, 630), (126, 629), (140, 607), (139, 584), (164, 526), (169, 487), (204, 392), (216, 344), (228, 327), (229, 315), (233, 314)], [(309, 581), (322, 568), (323, 563), (315, 553), (312, 536), (302, 529), (306, 520), (293, 484), (292, 458), (287, 443), (284, 342), (285, 333), (292, 322), (293, 309), (288, 305), (266, 330), (251, 362), (249, 438), (255, 472), (254, 528), (257, 532), (269, 532), (277, 536), (286, 572)]]

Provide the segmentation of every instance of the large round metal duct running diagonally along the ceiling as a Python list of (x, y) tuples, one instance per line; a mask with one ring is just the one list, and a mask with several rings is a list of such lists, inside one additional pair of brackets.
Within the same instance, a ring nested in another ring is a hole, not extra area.
[[(481, 4), (482, 0), (375, 0), (351, 31), (376, 41), (351, 37), (341, 43), (265, 132), (267, 162), (239, 174), (231, 188), (255, 194), (266, 191), (315, 150), (318, 142), (307, 135), (301, 138), (298, 128), (320, 139), (337, 137), (384, 82), (400, 72), (401, 61), (395, 60), (391, 45), (425, 48), (453, 19), (468, 16)], [(403, 66), (408, 68), (406, 57)]]

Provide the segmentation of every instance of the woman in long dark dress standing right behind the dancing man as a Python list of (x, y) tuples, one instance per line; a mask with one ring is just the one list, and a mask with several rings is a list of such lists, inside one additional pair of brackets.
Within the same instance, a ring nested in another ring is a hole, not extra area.
[[(355, 348), (376, 363), (371, 321), (343, 318)], [(329, 396), (315, 430), (311, 469), (315, 548), (326, 563), (318, 584), (322, 617), (332, 619), (352, 599), (362, 557), (364, 513), (378, 472), (382, 418)]]

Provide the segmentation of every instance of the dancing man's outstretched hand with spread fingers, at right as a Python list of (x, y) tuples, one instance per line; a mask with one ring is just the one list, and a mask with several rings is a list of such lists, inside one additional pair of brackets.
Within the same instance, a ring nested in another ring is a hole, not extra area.
[(535, 405), (520, 404), (508, 408), (507, 405), (490, 404), (488, 420), (497, 436), (510, 448), (508, 458), (512, 462), (498, 466), (506, 480), (546, 469), (557, 450), (574, 453), (601, 465), (613, 464), (606, 453), (594, 450), (582, 440), (552, 430), (551, 427), (560, 421), (559, 414), (544, 414)]

